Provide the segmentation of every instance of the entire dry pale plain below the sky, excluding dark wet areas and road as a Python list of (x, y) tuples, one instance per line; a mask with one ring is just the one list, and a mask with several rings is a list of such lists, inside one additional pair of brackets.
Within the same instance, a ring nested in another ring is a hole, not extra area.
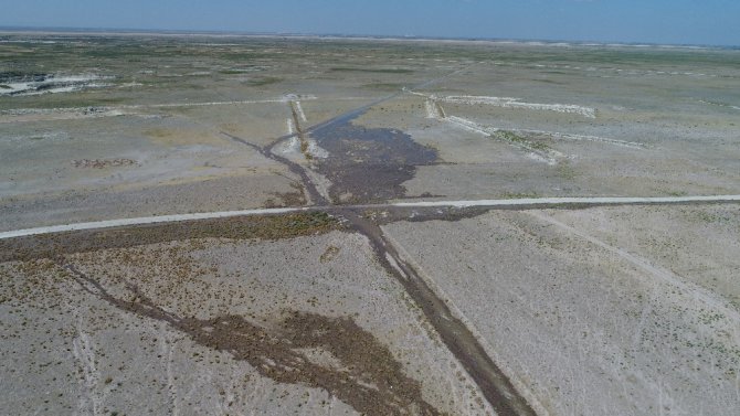
[[(402, 202), (740, 194), (737, 51), (203, 41), (88, 40), (81, 55), (3, 44), (0, 71), (13, 62), (112, 86), (0, 97), (0, 232), (304, 205), (297, 174), (221, 132), (266, 146), (297, 128), (290, 100), (310, 126), (402, 87), (353, 121), (438, 151), (403, 183)], [(109, 58), (86, 57), (98, 55)], [(521, 137), (501, 140), (500, 129)], [(331, 183), (311, 174), (326, 193)], [(739, 216), (730, 204), (496, 211), (384, 230), (539, 414), (734, 415)], [(489, 410), (358, 235), (63, 259), (114, 295), (130, 297), (134, 282), (178, 316), (350, 317), (435, 408)], [(14, 414), (353, 412), (116, 309), (50, 260), (2, 264), (0, 275), (0, 388)]]

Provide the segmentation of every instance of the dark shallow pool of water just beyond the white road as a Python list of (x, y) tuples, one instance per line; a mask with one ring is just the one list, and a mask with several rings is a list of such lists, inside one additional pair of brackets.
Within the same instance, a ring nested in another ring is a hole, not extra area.
[(403, 131), (366, 128), (351, 117), (311, 130), (311, 137), (329, 157), (316, 161), (316, 170), (331, 181), (335, 203), (379, 202), (405, 194), (403, 182), (416, 167), (432, 164), (437, 151), (419, 145)]

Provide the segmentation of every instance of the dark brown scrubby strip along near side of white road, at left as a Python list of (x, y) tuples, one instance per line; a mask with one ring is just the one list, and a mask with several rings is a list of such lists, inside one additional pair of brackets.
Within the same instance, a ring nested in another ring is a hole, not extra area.
[(339, 227), (337, 220), (326, 213), (300, 212), (75, 231), (0, 239), (0, 263), (192, 238), (292, 238)]

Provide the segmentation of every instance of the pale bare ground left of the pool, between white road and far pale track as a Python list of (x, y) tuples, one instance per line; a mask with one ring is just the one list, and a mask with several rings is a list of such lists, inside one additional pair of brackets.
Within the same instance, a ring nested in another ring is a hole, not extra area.
[[(120, 116), (4, 125), (0, 159), (7, 180), (0, 183), (0, 227), (294, 204), (286, 202), (288, 194), (303, 200), (295, 175), (284, 166), (220, 134), (267, 143), (286, 134), (287, 104), (254, 110), (219, 107), (189, 108), (187, 118)], [(283, 114), (273, 122), (261, 111)], [(204, 117), (214, 119), (199, 120)], [(271, 131), (269, 126), (279, 127)], [(130, 162), (74, 164), (116, 159)]]

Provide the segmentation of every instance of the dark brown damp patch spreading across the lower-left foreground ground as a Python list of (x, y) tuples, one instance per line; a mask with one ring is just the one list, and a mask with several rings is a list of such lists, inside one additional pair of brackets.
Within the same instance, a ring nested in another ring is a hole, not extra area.
[[(179, 317), (157, 306), (136, 287), (134, 301), (110, 295), (98, 281), (65, 265), (89, 294), (109, 305), (168, 323), (195, 343), (228, 352), (278, 383), (323, 388), (367, 415), (440, 415), (422, 397), (421, 383), (408, 377), (385, 345), (351, 318), (287, 311), (278, 326), (263, 327), (241, 316)], [(330, 354), (338, 364), (313, 362), (304, 351)]]

